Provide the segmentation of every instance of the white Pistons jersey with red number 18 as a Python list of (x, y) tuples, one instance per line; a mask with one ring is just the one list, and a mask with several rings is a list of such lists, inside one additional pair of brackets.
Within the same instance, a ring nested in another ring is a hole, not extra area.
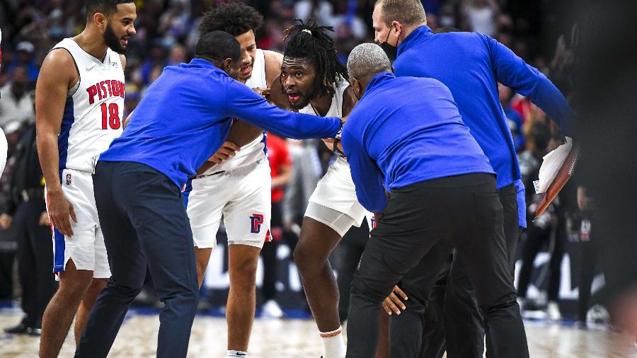
[(53, 47), (73, 57), (79, 80), (69, 90), (57, 144), (59, 169), (93, 172), (98, 156), (122, 134), (124, 70), (120, 55), (106, 50), (100, 59), (88, 54), (71, 38)]

